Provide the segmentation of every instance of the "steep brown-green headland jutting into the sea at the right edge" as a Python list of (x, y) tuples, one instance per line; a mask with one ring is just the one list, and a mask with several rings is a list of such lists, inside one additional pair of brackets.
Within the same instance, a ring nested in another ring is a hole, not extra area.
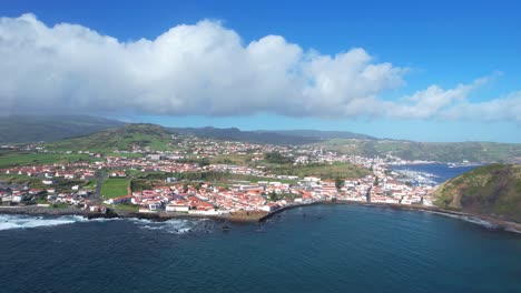
[(521, 223), (521, 165), (491, 164), (444, 182), (436, 205)]

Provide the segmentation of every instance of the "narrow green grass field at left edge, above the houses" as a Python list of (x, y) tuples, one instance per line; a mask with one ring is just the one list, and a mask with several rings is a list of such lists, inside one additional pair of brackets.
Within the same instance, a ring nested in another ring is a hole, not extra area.
[(82, 153), (3, 152), (0, 153), (0, 169), (20, 165), (67, 163), (79, 160), (89, 160), (89, 155)]

